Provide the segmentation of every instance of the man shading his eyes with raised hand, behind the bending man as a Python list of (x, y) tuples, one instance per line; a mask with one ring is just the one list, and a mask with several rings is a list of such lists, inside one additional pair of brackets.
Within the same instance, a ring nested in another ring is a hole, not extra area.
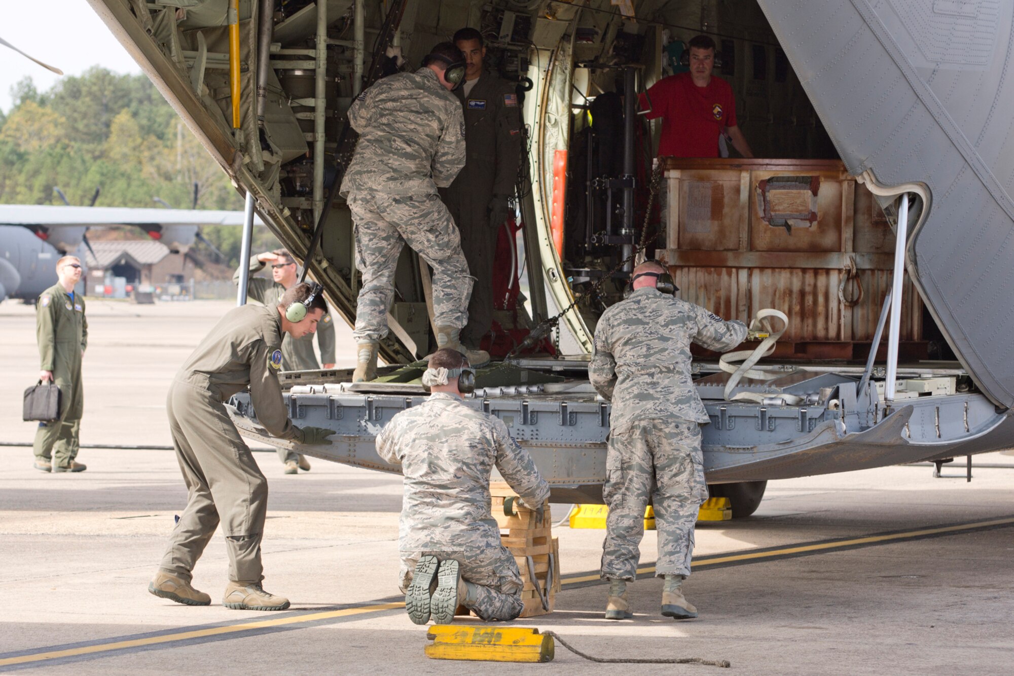
[[(264, 266), (271, 264), (272, 281), (254, 277)], [(250, 277), (246, 283), (246, 293), (249, 297), (266, 306), (277, 305), (286, 289), (290, 289), (299, 281), (296, 261), (284, 249), (258, 254), (250, 259)], [(239, 284), (240, 270), (232, 275), (232, 283)], [(325, 313), (317, 325), (317, 344), (320, 347), (320, 362), (313, 353), (313, 336), (307, 334), (302, 338), (285, 336), (282, 341), (282, 370), (316, 370), (323, 363), (324, 368), (335, 367), (335, 325), (331, 313)], [(297, 474), (299, 470), (310, 471), (310, 463), (305, 456), (286, 449), (278, 450), (278, 458), (285, 465), (286, 474)]]

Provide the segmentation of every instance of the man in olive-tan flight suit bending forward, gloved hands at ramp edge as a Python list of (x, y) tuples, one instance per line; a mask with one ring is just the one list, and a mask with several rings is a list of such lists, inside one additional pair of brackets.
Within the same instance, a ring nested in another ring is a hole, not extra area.
[[(296, 284), (277, 305), (229, 311), (176, 373), (165, 402), (172, 445), (188, 488), (187, 508), (169, 536), (169, 547), (148, 591), (191, 606), (211, 597), (191, 586), (192, 571), (222, 522), (229, 554), (229, 584), (222, 605), (236, 610), (285, 610), (289, 600), (264, 591), (261, 538), (268, 511), (268, 482), (229, 419), (224, 402), (250, 389), (260, 424), (273, 436), (305, 445), (330, 445), (334, 433), (300, 429), (289, 420), (278, 384), (282, 337), (313, 333), (324, 313), (309, 284)], [(292, 322), (286, 311), (306, 307)]]

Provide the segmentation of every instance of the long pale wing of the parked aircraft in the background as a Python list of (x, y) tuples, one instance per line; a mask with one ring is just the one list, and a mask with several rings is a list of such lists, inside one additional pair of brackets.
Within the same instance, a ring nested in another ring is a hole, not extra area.
[[(4, 225), (242, 225), (242, 211), (0, 204)], [(264, 225), (257, 214), (255, 225)]]

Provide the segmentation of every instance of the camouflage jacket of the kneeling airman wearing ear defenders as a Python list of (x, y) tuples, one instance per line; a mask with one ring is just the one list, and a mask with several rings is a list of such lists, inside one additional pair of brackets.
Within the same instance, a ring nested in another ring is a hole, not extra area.
[(401, 551), (465, 551), (499, 544), (490, 513), (494, 466), (527, 504), (541, 504), (550, 486), (528, 452), (499, 418), (437, 392), (396, 414), (377, 436), (377, 453), (402, 465), (405, 496)]

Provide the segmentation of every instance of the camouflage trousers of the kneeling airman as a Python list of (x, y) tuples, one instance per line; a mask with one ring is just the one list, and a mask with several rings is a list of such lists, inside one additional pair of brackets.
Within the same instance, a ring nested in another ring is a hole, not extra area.
[(474, 584), (479, 592), (476, 602), (465, 605), (483, 620), (512, 620), (524, 609), (521, 573), (514, 557), (502, 545), (467, 551), (403, 551), (399, 577), (402, 592), (412, 584), (416, 563), (423, 554), (433, 554), (441, 561), (452, 558), (458, 562), (461, 580)]

